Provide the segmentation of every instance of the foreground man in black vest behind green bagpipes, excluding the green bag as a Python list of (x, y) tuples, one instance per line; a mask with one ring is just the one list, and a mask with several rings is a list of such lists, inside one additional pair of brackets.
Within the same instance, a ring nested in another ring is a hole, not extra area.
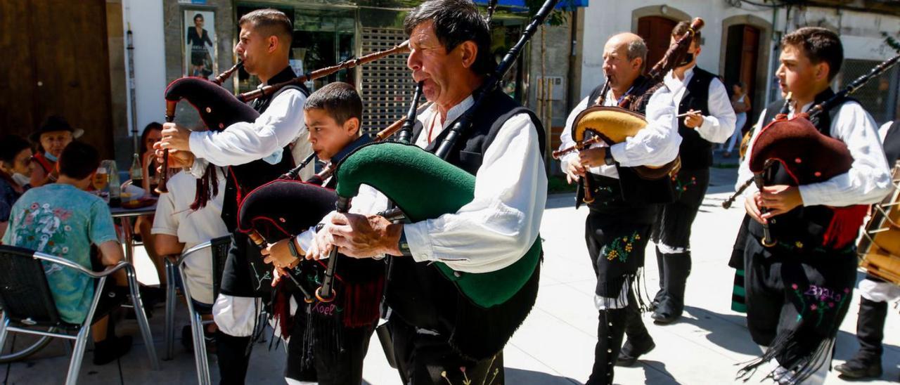
[[(435, 150), (473, 106), (496, 66), (490, 27), (470, 0), (427, 1), (403, 24), (410, 35), (407, 66), (434, 103), (419, 113), (413, 141)], [(472, 202), (437, 219), (407, 224), (336, 213), (308, 251), (319, 258), (333, 245), (348, 256), (392, 255), (386, 300), (404, 383), (503, 383), (502, 348), (518, 327), (506, 318), (524, 317), (536, 299), (539, 265), (525, 284), (527, 292), (487, 310), (473, 309), (476, 305), (437, 270), (445, 264), (460, 274), (496, 272), (516, 263), (538, 237), (547, 188), (544, 130), (534, 112), (499, 88), (491, 92), (472, 130), (447, 157), (475, 175)], [(464, 316), (475, 312), (481, 312), (481, 321)], [(491, 354), (473, 359), (466, 346)]]

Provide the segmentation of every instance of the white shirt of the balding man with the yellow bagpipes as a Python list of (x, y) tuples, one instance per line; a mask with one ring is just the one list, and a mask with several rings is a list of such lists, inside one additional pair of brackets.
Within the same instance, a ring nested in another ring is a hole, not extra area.
[[(613, 159), (621, 166), (665, 166), (675, 157), (678, 157), (681, 136), (678, 134), (678, 121), (675, 118), (678, 110), (675, 104), (672, 103), (672, 98), (673, 94), (667, 86), (662, 86), (656, 90), (647, 103), (645, 114), (647, 127), (638, 131), (634, 137), (609, 147)], [(594, 101), (589, 101), (588, 97), (585, 97), (569, 114), (563, 134), (560, 136), (560, 141), (562, 142), (560, 149), (570, 148), (575, 145), (575, 141), (572, 140), (572, 126), (575, 124), (575, 118), (592, 103)], [(617, 104), (612, 90), (608, 91), (603, 105), (616, 106)], [(608, 146), (603, 142), (590, 146), (590, 148), (601, 147)], [(566, 170), (566, 165), (569, 162), (574, 162), (577, 158), (578, 154), (574, 152), (563, 156), (560, 159), (563, 171)], [(615, 165), (590, 167), (588, 172), (618, 179), (618, 171)]]

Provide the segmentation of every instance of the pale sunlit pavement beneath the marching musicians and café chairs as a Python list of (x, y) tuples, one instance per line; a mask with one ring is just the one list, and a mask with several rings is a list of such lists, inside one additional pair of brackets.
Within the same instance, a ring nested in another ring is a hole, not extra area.
[[(649, 316), (644, 323), (656, 341), (656, 349), (642, 357), (632, 368), (617, 368), (619, 384), (730, 384), (743, 363), (760, 354), (745, 327), (742, 314), (729, 309), (734, 270), (727, 259), (734, 244), (734, 234), (743, 216), (743, 205), (724, 210), (721, 202), (731, 193), (736, 169), (714, 169), (712, 186), (693, 228), (693, 270), (687, 288), (687, 311), (682, 320), (670, 326), (653, 325)], [(547, 201), (541, 236), (545, 239), (545, 263), (536, 308), (525, 324), (512, 337), (504, 351), (508, 384), (572, 384), (586, 381), (593, 362), (597, 341), (597, 311), (592, 296), (595, 278), (584, 245), (584, 219), (588, 210), (574, 209), (572, 194), (554, 195)], [(655, 292), (658, 274), (653, 244), (647, 249), (646, 287)], [(146, 255), (139, 255), (141, 280), (156, 279), (149, 270)], [(862, 273), (860, 273), (860, 278)], [(838, 336), (835, 362), (847, 360), (856, 351), (855, 296), (851, 310)], [(895, 309), (895, 308), (891, 308)], [(900, 376), (900, 316), (892, 310), (886, 330), (885, 375), (881, 381), (896, 382)], [(157, 308), (151, 319), (157, 352), (163, 353), (163, 309)], [(186, 324), (184, 309), (179, 308), (176, 330), (180, 340), (181, 325)], [(123, 321), (125, 331), (138, 336), (133, 320)], [(254, 346), (247, 383), (284, 383), (283, 346), (269, 350), (268, 340)], [(139, 337), (136, 337), (139, 339)], [(9, 384), (61, 383), (65, 378), (67, 355), (62, 343), (55, 342), (39, 356), (24, 363), (0, 365), (0, 378)], [(184, 352), (176, 341), (175, 359), (162, 362), (162, 371), (149, 371), (143, 347), (136, 344), (132, 352), (118, 364), (102, 367), (90, 364), (85, 354), (82, 383), (194, 383), (193, 355)], [(216, 359), (210, 357), (214, 381), (218, 381)], [(758, 373), (748, 383), (757, 383)], [(365, 361), (365, 381), (371, 384), (400, 384), (381, 351), (377, 339), (372, 341)], [(845, 383), (835, 372), (828, 384)]]

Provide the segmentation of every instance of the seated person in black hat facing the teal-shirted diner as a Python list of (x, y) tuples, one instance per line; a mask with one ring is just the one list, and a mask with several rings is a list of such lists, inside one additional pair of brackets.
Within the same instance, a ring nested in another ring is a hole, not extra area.
[(40, 130), (31, 134), (32, 142), (38, 144), (38, 152), (31, 158), (34, 171), (31, 172), (31, 187), (40, 187), (44, 184), (56, 182), (56, 161), (62, 149), (85, 133), (85, 130), (74, 129), (68, 122), (59, 116), (50, 116), (40, 126)]

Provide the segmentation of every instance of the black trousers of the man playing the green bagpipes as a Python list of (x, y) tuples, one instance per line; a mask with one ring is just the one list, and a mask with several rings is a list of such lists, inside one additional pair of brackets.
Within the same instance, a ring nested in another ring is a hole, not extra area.
[(388, 327), (397, 369), (406, 384), (504, 383), (502, 351), (491, 358), (473, 361), (457, 353), (447, 342), (448, 336), (420, 333), (396, 315), (391, 317)]

